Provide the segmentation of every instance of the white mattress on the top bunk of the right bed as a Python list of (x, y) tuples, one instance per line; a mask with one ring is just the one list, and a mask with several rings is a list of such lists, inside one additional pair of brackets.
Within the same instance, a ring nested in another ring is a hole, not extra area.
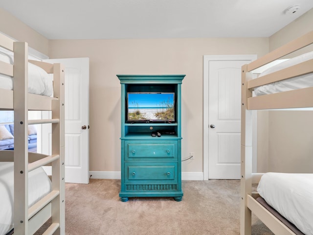
[[(290, 60), (284, 61), (273, 67), (270, 67), (266, 71), (262, 72), (259, 77), (267, 75), (269, 73), (279, 71), (291, 67), (292, 65), (299, 64), (301, 62), (313, 59), (313, 51), (306, 54), (294, 57)], [(313, 73), (308, 73), (302, 76), (293, 77), (279, 82), (274, 82), (264, 86), (260, 86), (254, 89), (254, 95), (273, 94), (278, 92), (286, 92), (306, 87), (313, 87)]]

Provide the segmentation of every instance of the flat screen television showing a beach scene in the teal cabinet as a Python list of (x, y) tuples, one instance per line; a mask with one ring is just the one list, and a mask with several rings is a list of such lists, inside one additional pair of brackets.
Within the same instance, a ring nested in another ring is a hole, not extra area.
[(175, 93), (127, 93), (128, 122), (175, 122)]

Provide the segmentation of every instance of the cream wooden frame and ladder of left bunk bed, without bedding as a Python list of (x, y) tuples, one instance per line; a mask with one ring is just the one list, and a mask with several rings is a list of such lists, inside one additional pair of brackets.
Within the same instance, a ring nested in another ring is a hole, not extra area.
[[(0, 34), (0, 46), (14, 52), (14, 65), (0, 62), (14, 76), (14, 91), (0, 89), (0, 110), (14, 111), (14, 151), (0, 151), (1, 162), (14, 162), (14, 234), (34, 234), (50, 217), (45, 235), (65, 234), (65, 73), (61, 64), (28, 61), (28, 44)], [(28, 94), (28, 62), (53, 73), (53, 96)], [(28, 120), (28, 110), (50, 110), (52, 119)], [(52, 155), (28, 153), (28, 124), (52, 123)], [(28, 208), (28, 172), (51, 165), (52, 191)]]

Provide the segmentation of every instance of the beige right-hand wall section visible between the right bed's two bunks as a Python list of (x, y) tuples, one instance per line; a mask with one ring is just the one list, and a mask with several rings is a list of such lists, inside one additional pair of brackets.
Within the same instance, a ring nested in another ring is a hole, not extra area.
[(270, 111), (268, 170), (313, 173), (313, 111)]

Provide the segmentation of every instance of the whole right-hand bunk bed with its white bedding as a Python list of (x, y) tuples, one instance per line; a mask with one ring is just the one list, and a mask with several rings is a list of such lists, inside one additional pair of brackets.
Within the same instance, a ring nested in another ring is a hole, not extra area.
[[(251, 235), (251, 212), (275, 235), (313, 234), (313, 192), (307, 190), (313, 188), (313, 174), (252, 173), (252, 110), (313, 107), (313, 53), (307, 52), (312, 50), (312, 44), (313, 31), (242, 67), (241, 235)], [(304, 47), (307, 53), (297, 55), (299, 51), (303, 53)], [(287, 63), (283, 62), (254, 78), (255, 69), (291, 55), (293, 57)], [(305, 84), (294, 84), (298, 78)], [(282, 89), (272, 89), (275, 84)], [(291, 187), (292, 182), (296, 188)], [(252, 192), (252, 184), (258, 184), (257, 192)], [(306, 191), (301, 192), (301, 188)], [(287, 196), (289, 192), (291, 194)], [(275, 195), (279, 197), (278, 201), (287, 197), (288, 204), (272, 200)], [(297, 205), (299, 195), (304, 200), (300, 206)], [(292, 207), (294, 205), (295, 208)], [(286, 208), (292, 208), (291, 212), (288, 213)], [(292, 213), (296, 219), (290, 216)]]

